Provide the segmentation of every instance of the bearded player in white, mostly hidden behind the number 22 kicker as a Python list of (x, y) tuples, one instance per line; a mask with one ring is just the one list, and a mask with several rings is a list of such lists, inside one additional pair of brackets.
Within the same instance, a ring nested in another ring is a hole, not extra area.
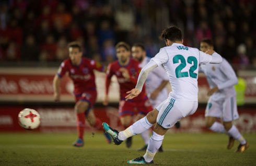
[[(144, 45), (140, 43), (133, 44), (132, 56), (135, 60), (141, 63), (139, 65), (141, 68), (144, 67), (150, 61), (150, 57), (146, 56)], [(169, 81), (168, 81), (167, 74), (165, 72), (164, 67), (162, 66), (155, 68), (152, 72), (148, 74), (148, 77), (145, 83), (146, 93), (153, 108), (156, 108), (162, 101), (167, 99), (168, 92), (165, 87), (168, 84), (168, 82)], [(143, 132), (142, 135), (149, 135), (148, 130)], [(147, 140), (144, 140), (144, 141), (145, 141), (145, 146), (142, 147), (141, 149), (138, 149), (138, 151), (147, 150), (149, 137)], [(159, 152), (163, 151), (162, 146), (159, 148), (158, 151)]]

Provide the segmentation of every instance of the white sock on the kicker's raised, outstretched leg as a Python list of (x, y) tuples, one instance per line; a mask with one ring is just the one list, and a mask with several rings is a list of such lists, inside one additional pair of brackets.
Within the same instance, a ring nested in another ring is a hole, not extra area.
[(141, 134), (152, 126), (153, 124), (149, 123), (147, 117), (145, 116), (137, 122), (135, 122), (130, 127), (126, 128), (124, 131), (119, 132), (118, 139), (125, 140), (126, 138), (129, 138), (131, 136)]

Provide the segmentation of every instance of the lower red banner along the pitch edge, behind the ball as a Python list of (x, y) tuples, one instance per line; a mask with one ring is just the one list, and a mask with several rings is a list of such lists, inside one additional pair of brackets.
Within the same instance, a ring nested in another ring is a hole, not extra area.
[[(18, 113), (24, 109), (22, 106), (2, 106), (0, 108), (0, 132), (26, 131), (18, 124)], [(76, 116), (73, 108), (32, 108), (36, 109), (41, 116), (41, 124), (38, 132), (76, 132)], [(107, 122), (113, 128), (123, 129), (119, 120), (117, 108), (95, 108), (95, 114), (102, 122)], [(235, 121), (236, 126), (243, 133), (256, 132), (256, 108), (239, 108), (240, 118)], [(94, 128), (86, 123), (86, 131)], [(199, 108), (192, 116), (181, 120), (181, 127), (172, 127), (169, 132), (199, 133), (208, 129), (204, 122), (204, 108)]]

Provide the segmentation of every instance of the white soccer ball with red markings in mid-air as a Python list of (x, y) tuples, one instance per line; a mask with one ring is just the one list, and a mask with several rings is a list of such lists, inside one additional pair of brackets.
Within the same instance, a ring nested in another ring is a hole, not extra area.
[(18, 115), (19, 125), (25, 129), (35, 129), (40, 125), (40, 115), (36, 110), (24, 109)]

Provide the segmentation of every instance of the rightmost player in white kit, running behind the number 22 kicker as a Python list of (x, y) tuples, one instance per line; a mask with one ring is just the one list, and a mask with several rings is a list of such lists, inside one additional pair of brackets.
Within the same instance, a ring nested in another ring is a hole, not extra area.
[[(200, 43), (200, 50), (213, 50), (213, 42), (204, 39)], [(243, 152), (249, 144), (243, 138), (232, 121), (239, 118), (236, 102), (236, 91), (234, 85), (237, 84), (237, 76), (230, 64), (223, 58), (220, 64), (200, 65), (200, 72), (206, 75), (210, 90), (205, 110), (206, 127), (217, 133), (225, 133), (229, 136), (227, 149), (234, 146), (235, 139), (240, 142), (236, 152)], [(222, 118), (223, 124), (216, 121)]]

